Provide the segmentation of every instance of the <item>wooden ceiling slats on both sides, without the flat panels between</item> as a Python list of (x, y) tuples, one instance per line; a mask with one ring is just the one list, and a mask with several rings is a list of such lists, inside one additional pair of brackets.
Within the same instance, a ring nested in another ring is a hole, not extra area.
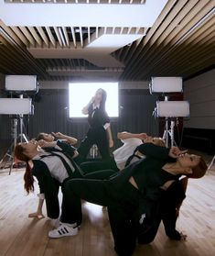
[[(37, 0), (23, 2), (41, 3)], [(76, 1), (77, 4), (92, 2), (95, 3), (91, 0)], [(107, 4), (107, 1), (97, 1), (97, 4), (102, 3)], [(109, 0), (108, 3), (144, 4), (145, 1)], [(96, 69), (96, 66), (83, 59), (35, 59), (27, 48), (32, 46), (41, 49), (83, 49), (86, 43), (91, 43), (92, 33), (95, 33), (95, 38), (101, 33), (145, 33), (142, 39), (112, 52), (115, 59), (124, 63), (120, 80), (145, 81), (151, 76), (166, 75), (182, 76), (186, 79), (197, 72), (214, 67), (214, 3), (214, 0), (169, 0), (152, 28), (7, 27), (0, 20), (0, 28), (3, 29), (0, 30), (0, 72), (37, 74), (40, 80), (70, 79), (70, 76), (51, 76), (47, 70), (81, 67), (88, 70)]]

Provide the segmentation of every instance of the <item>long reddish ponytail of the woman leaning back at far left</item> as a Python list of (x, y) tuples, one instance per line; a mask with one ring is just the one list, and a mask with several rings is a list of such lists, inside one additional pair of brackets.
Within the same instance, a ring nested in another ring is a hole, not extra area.
[(34, 178), (31, 173), (31, 168), (29, 166), (28, 161), (30, 160), (24, 152), (24, 148), (22, 147), (21, 144), (17, 144), (15, 147), (15, 157), (19, 161), (25, 161), (26, 162), (26, 172), (24, 174), (24, 188), (27, 191), (27, 194), (30, 192), (34, 192)]

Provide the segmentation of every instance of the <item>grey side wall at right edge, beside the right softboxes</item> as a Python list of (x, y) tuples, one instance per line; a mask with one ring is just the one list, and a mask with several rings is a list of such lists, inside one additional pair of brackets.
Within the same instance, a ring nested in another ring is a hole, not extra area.
[(190, 118), (184, 120), (184, 128), (215, 129), (215, 69), (186, 81), (184, 99), (190, 105)]

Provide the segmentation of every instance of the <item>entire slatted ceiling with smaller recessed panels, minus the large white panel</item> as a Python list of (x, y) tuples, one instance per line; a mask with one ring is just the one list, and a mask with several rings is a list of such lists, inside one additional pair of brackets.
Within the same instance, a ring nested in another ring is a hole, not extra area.
[[(144, 6), (148, 1), (8, 0), (5, 3), (114, 4), (117, 8)], [(169, 0), (151, 27), (117, 24), (103, 27), (99, 23), (89, 27), (72, 23), (6, 26), (0, 16), (0, 72), (34, 74), (42, 81), (145, 81), (152, 76), (187, 79), (214, 68), (214, 3), (214, 0)]]

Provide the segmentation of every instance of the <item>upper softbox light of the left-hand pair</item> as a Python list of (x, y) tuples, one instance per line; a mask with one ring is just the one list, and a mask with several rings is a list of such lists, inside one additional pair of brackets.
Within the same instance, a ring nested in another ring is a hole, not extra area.
[(6, 91), (37, 91), (36, 75), (6, 75)]

